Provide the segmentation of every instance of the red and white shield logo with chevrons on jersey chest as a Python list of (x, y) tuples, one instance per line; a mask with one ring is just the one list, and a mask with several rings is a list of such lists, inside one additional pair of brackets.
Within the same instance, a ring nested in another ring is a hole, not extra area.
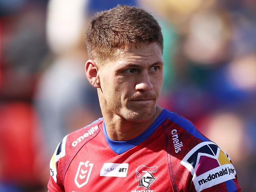
[(81, 188), (88, 183), (93, 167), (93, 164), (89, 162), (90, 161), (79, 163), (77, 174), (75, 176), (75, 184), (78, 188)]

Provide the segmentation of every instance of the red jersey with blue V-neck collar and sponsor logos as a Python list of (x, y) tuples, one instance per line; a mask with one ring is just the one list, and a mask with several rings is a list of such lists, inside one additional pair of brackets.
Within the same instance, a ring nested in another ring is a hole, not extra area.
[(103, 118), (64, 137), (49, 192), (241, 191), (230, 157), (187, 119), (164, 109), (142, 134), (108, 138)]

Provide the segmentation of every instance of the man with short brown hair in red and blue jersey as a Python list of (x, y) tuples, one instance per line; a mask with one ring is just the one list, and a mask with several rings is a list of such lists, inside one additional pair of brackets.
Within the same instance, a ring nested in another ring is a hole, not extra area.
[(86, 43), (86, 76), (103, 118), (60, 142), (50, 192), (241, 190), (228, 155), (157, 105), (163, 36), (149, 13), (129, 6), (98, 13)]

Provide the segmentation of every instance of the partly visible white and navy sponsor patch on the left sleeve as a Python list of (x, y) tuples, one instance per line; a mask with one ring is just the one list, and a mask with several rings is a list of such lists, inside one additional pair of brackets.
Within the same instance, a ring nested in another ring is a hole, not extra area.
[(52, 155), (52, 158), (50, 160), (50, 175), (52, 176), (53, 180), (55, 183), (57, 183), (57, 169), (56, 169), (56, 162), (62, 157), (65, 156), (65, 148), (66, 148), (66, 140), (67, 140), (66, 135), (63, 140), (58, 144), (54, 154)]

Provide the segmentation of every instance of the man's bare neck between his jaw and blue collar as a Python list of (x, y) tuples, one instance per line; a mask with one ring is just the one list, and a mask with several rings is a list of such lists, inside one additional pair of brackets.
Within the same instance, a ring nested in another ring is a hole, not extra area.
[(127, 141), (135, 138), (148, 129), (161, 114), (162, 110), (160, 106), (157, 106), (156, 112), (151, 119), (143, 122), (132, 122), (120, 116), (108, 117), (103, 114), (108, 137), (115, 141)]

